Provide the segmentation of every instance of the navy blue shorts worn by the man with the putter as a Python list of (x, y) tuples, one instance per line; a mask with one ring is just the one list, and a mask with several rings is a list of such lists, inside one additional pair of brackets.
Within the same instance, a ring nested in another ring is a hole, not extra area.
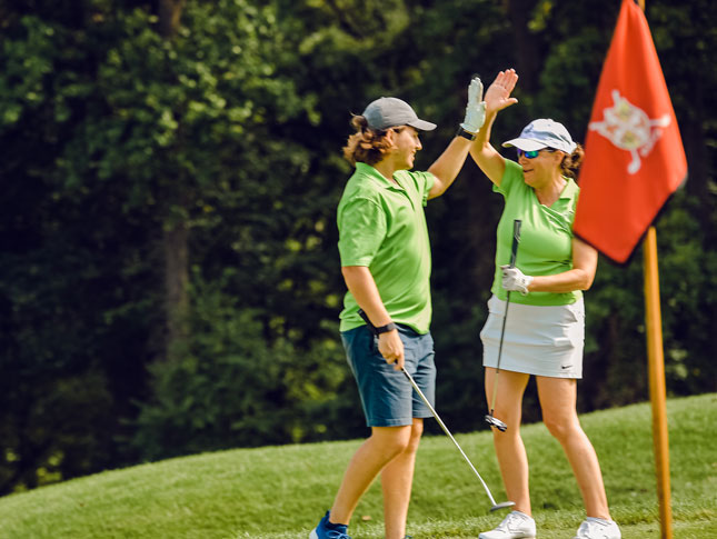
[[(405, 368), (414, 377), (431, 406), (436, 399), (436, 363), (434, 339), (407, 326), (398, 325), (404, 342)], [(356, 378), (366, 425), (368, 427), (401, 427), (414, 418), (432, 417), (428, 407), (414, 391), (400, 370), (394, 370), (378, 351), (378, 337), (366, 326), (341, 332), (346, 356)]]

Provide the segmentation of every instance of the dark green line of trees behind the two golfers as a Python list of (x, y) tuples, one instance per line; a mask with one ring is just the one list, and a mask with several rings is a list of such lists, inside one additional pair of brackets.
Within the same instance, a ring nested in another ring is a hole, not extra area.
[[(439, 128), (507, 67), (494, 139), (581, 141), (619, 1), (30, 0), (0, 7), (0, 493), (198, 451), (362, 437), (338, 339), (351, 113)], [(717, 389), (717, 21), (648, 1), (689, 179), (657, 221), (667, 387)], [(616, 193), (619, 196), (619, 193)], [(438, 407), (485, 428), (501, 201), (472, 162), (427, 208)], [(582, 411), (647, 399), (641, 256), (586, 295)], [(526, 417), (538, 420), (532, 388)]]

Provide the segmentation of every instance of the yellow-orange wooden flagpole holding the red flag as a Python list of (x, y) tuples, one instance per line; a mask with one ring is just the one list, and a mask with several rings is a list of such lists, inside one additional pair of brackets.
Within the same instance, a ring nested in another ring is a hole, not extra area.
[[(645, 11), (645, 0), (637, 2)], [(647, 327), (647, 361), (650, 402), (653, 405), (653, 445), (659, 502), (660, 538), (673, 539), (673, 508), (669, 482), (669, 440), (665, 387), (665, 352), (660, 313), (659, 273), (657, 270), (657, 231), (647, 229), (643, 243), (645, 273), (645, 320)]]

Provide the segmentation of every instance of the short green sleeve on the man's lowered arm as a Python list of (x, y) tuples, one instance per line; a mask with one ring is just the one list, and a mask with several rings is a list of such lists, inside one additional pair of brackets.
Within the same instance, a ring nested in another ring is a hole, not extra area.
[(370, 266), (386, 237), (386, 213), (375, 201), (356, 198), (338, 214), (341, 266)]

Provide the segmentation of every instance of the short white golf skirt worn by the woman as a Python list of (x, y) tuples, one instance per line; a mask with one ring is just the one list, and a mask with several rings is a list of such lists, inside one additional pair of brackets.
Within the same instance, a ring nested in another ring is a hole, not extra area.
[[(504, 300), (490, 297), (488, 319), (480, 331), (484, 367), (497, 367), (505, 309)], [(582, 298), (566, 306), (511, 302), (502, 338), (500, 370), (552, 378), (582, 378), (584, 343)]]

